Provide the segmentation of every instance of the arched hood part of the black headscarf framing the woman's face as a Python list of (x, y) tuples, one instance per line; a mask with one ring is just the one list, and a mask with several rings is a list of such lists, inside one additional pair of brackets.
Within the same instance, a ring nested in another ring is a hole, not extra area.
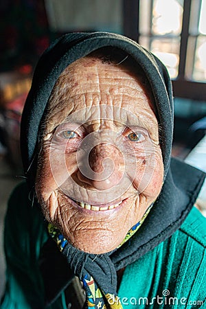
[[(60, 73), (72, 62), (101, 47), (122, 49), (133, 57), (146, 74), (162, 128), (161, 149), (165, 175), (167, 174), (173, 132), (172, 87), (168, 71), (155, 56), (136, 42), (125, 36), (106, 32), (66, 34), (55, 41), (39, 60), (21, 121), (21, 150), (25, 172), (30, 169), (36, 155), (41, 119)], [(36, 170), (35, 166), (34, 169)]]

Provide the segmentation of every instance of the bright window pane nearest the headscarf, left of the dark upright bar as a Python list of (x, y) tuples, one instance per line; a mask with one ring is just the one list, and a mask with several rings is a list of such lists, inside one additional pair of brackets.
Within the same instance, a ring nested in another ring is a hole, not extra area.
[(171, 78), (179, 72), (183, 21), (182, 1), (139, 1), (139, 43), (168, 67)]

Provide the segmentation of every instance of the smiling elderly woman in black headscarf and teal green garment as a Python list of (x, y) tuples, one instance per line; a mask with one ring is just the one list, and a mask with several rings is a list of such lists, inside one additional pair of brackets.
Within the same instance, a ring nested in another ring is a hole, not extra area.
[(23, 111), (1, 308), (204, 307), (204, 175), (170, 160), (172, 129), (168, 73), (137, 43), (67, 34), (47, 49)]

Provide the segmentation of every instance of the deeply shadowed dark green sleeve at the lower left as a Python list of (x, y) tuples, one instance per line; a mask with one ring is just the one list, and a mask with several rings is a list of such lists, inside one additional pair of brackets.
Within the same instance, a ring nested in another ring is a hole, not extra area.
[[(27, 186), (14, 190), (5, 216), (5, 258), (7, 283), (1, 309), (43, 309), (44, 286), (38, 258), (48, 239), (47, 225), (32, 201)], [(67, 309), (62, 295), (48, 309)]]

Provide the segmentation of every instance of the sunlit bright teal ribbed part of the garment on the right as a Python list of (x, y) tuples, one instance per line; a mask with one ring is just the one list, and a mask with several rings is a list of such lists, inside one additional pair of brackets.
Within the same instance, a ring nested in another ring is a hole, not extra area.
[(126, 267), (124, 308), (206, 308), (205, 247), (206, 219), (194, 207), (168, 240)]

